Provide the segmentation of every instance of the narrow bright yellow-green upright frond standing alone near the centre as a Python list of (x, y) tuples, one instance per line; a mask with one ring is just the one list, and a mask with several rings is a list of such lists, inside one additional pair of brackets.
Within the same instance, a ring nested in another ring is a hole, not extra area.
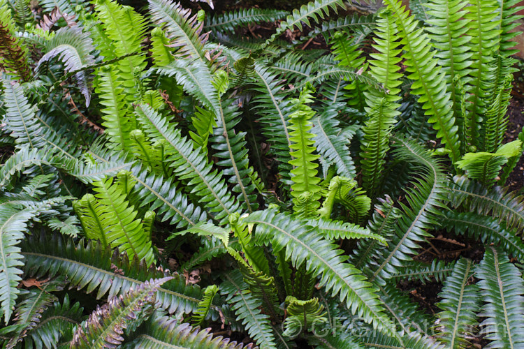
[(312, 96), (309, 89), (305, 89), (300, 93), (300, 98), (294, 101), (294, 111), (289, 117), (291, 132), (291, 146), (290, 151), (293, 159), (289, 161), (293, 165), (291, 170), (291, 195), (293, 195), (293, 203), (298, 204), (298, 198), (304, 193), (310, 193), (311, 197), (308, 200), (311, 202), (311, 209), (316, 209), (320, 206), (318, 200), (320, 199), (320, 178), (316, 176), (319, 167), (314, 163), (319, 155), (314, 154), (316, 150), (314, 147), (314, 134), (310, 133), (312, 129), (312, 122), (310, 119), (314, 116), (314, 111), (306, 105), (312, 102)]

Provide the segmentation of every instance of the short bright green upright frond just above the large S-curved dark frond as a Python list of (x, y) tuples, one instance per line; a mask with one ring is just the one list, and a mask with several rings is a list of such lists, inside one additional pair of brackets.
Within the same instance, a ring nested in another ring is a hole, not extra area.
[(379, 193), (382, 183), (382, 170), (389, 150), (389, 136), (400, 112), (395, 110), (396, 103), (387, 98), (370, 101), (367, 114), (370, 119), (365, 122), (362, 131), (364, 139), (361, 144), (362, 186), (374, 198)]

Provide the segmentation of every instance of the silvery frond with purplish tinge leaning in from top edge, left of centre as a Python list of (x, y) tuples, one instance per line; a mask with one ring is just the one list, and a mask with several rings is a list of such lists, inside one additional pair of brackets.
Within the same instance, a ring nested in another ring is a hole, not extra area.
[(190, 17), (189, 8), (182, 8), (180, 3), (170, 0), (149, 0), (149, 8), (154, 22), (161, 24), (171, 45), (178, 48), (175, 54), (198, 59), (201, 63), (207, 61), (203, 45), (207, 35), (201, 34), (203, 22), (198, 21), (196, 15)]

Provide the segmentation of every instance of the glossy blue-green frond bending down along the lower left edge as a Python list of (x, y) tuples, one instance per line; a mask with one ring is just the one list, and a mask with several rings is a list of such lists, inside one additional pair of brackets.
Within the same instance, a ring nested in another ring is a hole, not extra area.
[(61, 205), (67, 199), (57, 197), (24, 202), (2, 198), (0, 201), (0, 315), (6, 324), (20, 293), (17, 285), (22, 280), (20, 267), (24, 266), (24, 256), (18, 244), (24, 238), (27, 222), (38, 214), (49, 213), (54, 205)]

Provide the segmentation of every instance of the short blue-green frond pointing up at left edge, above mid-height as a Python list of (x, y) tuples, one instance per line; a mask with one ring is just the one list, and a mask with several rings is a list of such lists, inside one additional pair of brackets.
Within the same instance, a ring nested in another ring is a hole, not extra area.
[(43, 147), (41, 124), (36, 118), (36, 107), (27, 101), (20, 84), (3, 80), (3, 103), (6, 114), (3, 122), (16, 138), (17, 148), (29, 145), (31, 149)]

